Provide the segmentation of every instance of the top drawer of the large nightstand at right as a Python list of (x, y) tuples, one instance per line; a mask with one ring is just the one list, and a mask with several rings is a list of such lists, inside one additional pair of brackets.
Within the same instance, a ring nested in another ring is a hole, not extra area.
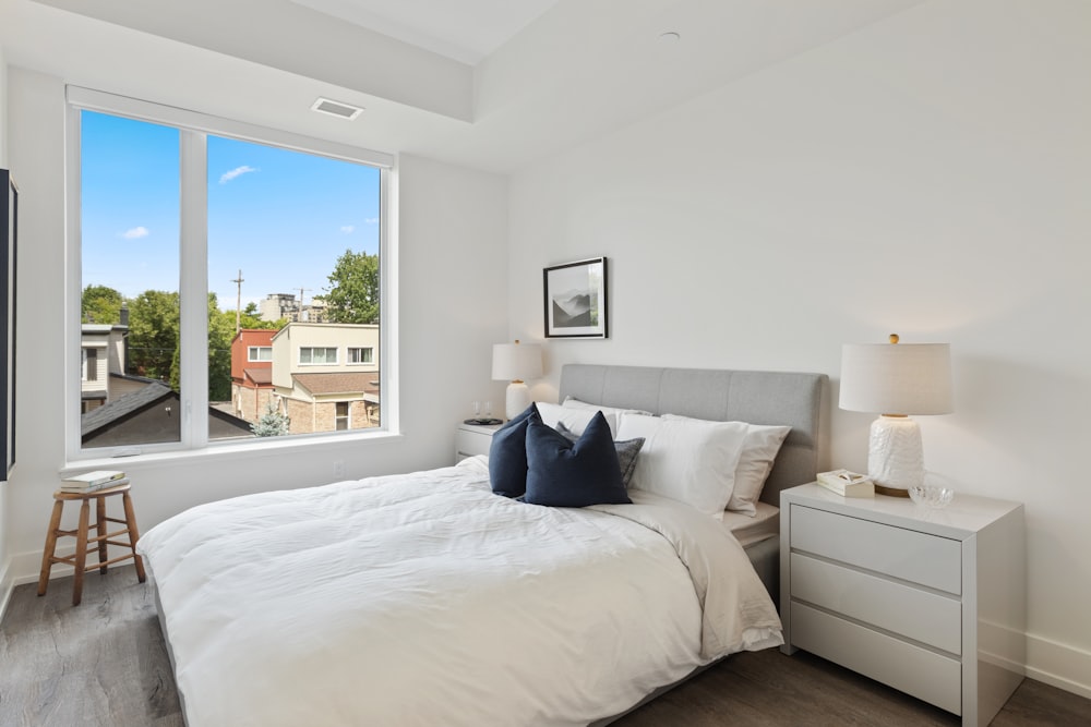
[(912, 530), (792, 505), (792, 550), (804, 550), (956, 595), (962, 544)]

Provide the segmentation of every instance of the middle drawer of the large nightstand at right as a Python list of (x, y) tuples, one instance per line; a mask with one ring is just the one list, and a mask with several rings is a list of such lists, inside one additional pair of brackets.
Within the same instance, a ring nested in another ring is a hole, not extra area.
[(962, 603), (793, 553), (792, 598), (837, 611), (955, 655), (962, 653)]

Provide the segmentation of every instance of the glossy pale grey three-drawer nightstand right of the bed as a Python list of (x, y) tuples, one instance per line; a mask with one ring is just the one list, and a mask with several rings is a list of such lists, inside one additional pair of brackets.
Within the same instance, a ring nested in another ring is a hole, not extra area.
[(987, 725), (1023, 679), (1023, 506), (932, 510), (817, 484), (780, 494), (781, 651), (811, 652)]

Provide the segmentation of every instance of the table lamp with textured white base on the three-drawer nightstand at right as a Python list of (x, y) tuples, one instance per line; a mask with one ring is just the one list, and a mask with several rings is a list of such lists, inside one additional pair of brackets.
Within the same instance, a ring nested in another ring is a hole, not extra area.
[(924, 480), (921, 429), (910, 414), (949, 414), (950, 346), (947, 343), (846, 343), (841, 349), (841, 397), (847, 411), (880, 414), (872, 423), (867, 476), (875, 492), (909, 497)]

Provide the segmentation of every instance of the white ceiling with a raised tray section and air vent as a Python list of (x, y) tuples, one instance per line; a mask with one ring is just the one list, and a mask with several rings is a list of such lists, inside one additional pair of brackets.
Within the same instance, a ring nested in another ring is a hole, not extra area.
[(0, 47), (75, 85), (511, 173), (924, 1), (0, 0)]

